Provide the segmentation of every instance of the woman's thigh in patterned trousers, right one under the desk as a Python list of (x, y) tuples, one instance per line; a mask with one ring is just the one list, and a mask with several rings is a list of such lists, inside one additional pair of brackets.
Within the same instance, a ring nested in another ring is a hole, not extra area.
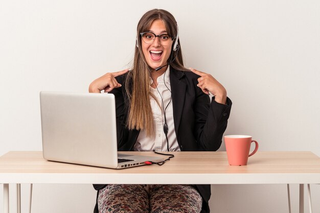
[(201, 211), (202, 197), (191, 185), (153, 185), (150, 194), (150, 212)]

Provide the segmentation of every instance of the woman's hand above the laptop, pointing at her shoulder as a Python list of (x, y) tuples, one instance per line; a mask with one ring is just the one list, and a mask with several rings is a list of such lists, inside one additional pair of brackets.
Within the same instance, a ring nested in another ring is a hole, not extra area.
[(121, 87), (121, 84), (116, 80), (117, 76), (121, 76), (128, 72), (129, 69), (124, 69), (115, 73), (107, 73), (100, 78), (97, 78), (89, 85), (89, 92), (100, 93), (102, 90), (104, 92), (109, 92), (113, 88)]

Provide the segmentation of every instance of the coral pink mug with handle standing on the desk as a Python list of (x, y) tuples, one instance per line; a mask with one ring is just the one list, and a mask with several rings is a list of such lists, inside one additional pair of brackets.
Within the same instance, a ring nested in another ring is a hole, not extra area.
[[(248, 157), (254, 155), (259, 147), (258, 142), (249, 135), (226, 135), (224, 143), (230, 165), (246, 165)], [(249, 154), (252, 143), (256, 144), (256, 148)]]

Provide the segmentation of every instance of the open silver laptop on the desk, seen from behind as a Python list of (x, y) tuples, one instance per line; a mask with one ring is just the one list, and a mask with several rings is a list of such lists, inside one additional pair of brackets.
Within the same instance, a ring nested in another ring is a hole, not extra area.
[(112, 169), (163, 161), (118, 154), (113, 94), (41, 91), (40, 111), (44, 159)]

